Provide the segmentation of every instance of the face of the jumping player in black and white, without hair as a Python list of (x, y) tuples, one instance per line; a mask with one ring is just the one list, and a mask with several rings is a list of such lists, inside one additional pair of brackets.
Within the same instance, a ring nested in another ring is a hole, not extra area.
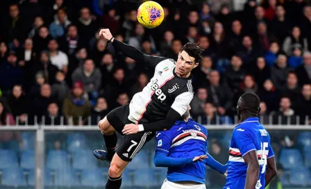
[(180, 77), (187, 77), (191, 70), (198, 65), (199, 63), (195, 62), (195, 58), (189, 56), (186, 51), (182, 51), (178, 54), (175, 72)]

